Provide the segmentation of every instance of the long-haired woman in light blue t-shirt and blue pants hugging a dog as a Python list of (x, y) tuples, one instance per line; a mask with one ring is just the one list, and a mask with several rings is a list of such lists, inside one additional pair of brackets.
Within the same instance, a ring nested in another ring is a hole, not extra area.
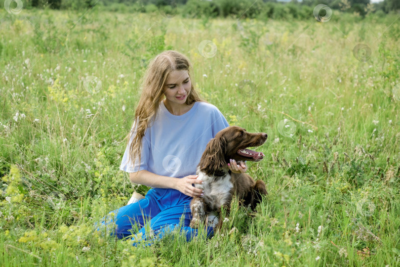
[[(152, 233), (159, 237), (176, 227), (187, 240), (197, 235), (197, 229), (188, 226), (190, 201), (202, 195), (193, 186), (202, 182), (194, 175), (196, 167), (208, 141), (229, 124), (215, 106), (200, 99), (190, 69), (187, 57), (171, 50), (149, 65), (120, 169), (129, 173), (132, 183), (152, 189), (145, 199), (113, 212), (119, 238), (131, 235), (137, 223), (142, 228), (133, 239), (146, 239), (143, 226), (149, 220)], [(228, 167), (236, 173), (247, 170), (245, 163), (234, 161)], [(212, 234), (208, 227), (207, 235)]]

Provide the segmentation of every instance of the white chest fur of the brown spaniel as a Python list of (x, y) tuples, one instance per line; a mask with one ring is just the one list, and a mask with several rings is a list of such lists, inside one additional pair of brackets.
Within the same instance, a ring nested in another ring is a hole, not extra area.
[(207, 176), (200, 172), (198, 169), (199, 177), (203, 184), (195, 184), (196, 188), (204, 190), (203, 198), (206, 200), (211, 210), (220, 208), (226, 204), (232, 192), (233, 184), (231, 182), (231, 175), (227, 174), (224, 177)]

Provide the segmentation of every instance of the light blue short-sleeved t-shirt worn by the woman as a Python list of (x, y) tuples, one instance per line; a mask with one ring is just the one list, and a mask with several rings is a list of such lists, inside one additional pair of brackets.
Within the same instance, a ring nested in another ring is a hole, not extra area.
[(160, 102), (160, 109), (142, 139), (140, 169), (136, 159), (132, 166), (129, 145), (122, 157), (120, 169), (128, 173), (147, 170), (151, 173), (183, 178), (196, 174), (196, 167), (207, 143), (229, 124), (214, 105), (195, 102), (183, 115), (172, 115)]

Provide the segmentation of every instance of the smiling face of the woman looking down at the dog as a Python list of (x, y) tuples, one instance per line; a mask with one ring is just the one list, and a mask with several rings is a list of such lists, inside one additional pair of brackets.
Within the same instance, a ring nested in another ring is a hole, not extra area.
[(170, 103), (183, 104), (190, 93), (192, 83), (187, 70), (172, 71), (163, 88), (165, 98)]

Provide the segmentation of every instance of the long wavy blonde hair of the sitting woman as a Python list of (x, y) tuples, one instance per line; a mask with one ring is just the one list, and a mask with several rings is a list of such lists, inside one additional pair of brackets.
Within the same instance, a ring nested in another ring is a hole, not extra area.
[[(160, 102), (164, 99), (163, 88), (168, 79), (169, 74), (174, 70), (187, 70), (192, 86), (190, 93), (186, 99), (186, 104), (203, 101), (200, 99), (198, 92), (194, 88), (194, 82), (191, 77), (192, 65), (189, 59), (177, 51), (167, 50), (157, 55), (151, 62), (146, 71), (142, 83), (142, 94), (139, 104), (135, 111), (135, 128), (136, 134), (133, 137), (129, 147), (130, 161), (135, 165), (135, 159), (139, 157), (140, 168), (140, 150), (142, 139), (149, 127), (151, 121), (157, 116)], [(128, 134), (128, 144), (135, 129)]]

